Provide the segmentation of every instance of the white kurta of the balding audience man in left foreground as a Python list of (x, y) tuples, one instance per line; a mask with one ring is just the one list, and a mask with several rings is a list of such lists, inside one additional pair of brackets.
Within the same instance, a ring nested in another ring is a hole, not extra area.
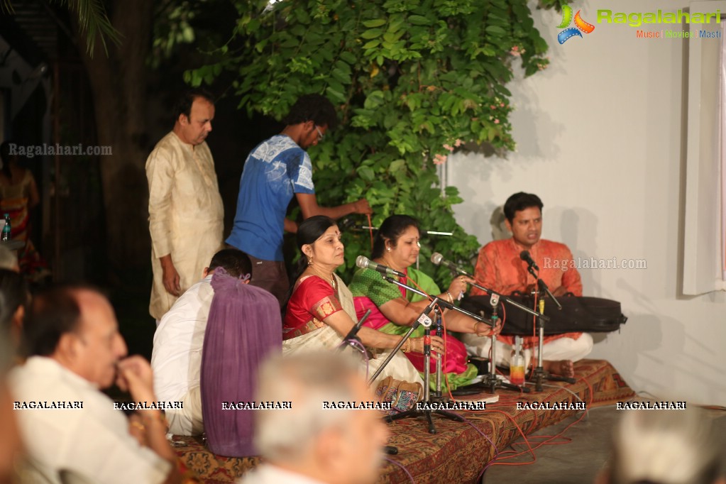
[(163, 483), (171, 464), (129, 434), (129, 421), (89, 381), (52, 358), (33, 356), (9, 375), (13, 398), (23, 402), (82, 402), (82, 409), (15, 410), (33, 462), (23, 482), (60, 484), (65, 470), (88, 482)]

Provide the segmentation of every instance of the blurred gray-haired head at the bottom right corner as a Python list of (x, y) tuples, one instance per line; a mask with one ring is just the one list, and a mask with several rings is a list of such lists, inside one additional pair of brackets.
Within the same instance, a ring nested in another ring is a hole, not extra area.
[(701, 409), (625, 411), (600, 484), (724, 484), (722, 446)]

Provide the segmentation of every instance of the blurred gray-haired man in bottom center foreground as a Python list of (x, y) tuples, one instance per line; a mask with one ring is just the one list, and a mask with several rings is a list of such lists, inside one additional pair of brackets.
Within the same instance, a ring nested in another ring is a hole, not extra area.
[(388, 430), (375, 410), (323, 409), (324, 402), (375, 401), (351, 358), (277, 356), (261, 367), (255, 444), (266, 463), (241, 484), (367, 484), (378, 479)]

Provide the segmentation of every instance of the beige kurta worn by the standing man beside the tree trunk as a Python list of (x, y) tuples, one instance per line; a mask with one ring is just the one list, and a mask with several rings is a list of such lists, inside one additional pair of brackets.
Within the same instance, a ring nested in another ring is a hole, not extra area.
[(161, 319), (176, 297), (164, 288), (159, 258), (171, 254), (181, 292), (202, 279), (222, 247), (224, 207), (206, 142), (192, 147), (172, 131), (147, 158), (146, 177), (154, 271), (149, 312)]

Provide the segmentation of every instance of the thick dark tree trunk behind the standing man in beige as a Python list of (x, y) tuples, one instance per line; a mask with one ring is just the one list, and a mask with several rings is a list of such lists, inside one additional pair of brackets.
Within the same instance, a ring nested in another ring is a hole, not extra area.
[(97, 39), (93, 57), (74, 22), (78, 49), (94, 99), (98, 144), (113, 155), (102, 156), (100, 171), (106, 214), (107, 273), (113, 285), (138, 282), (150, 258), (148, 188), (147, 55), (152, 35), (152, 2), (116, 0), (110, 20), (121, 45), (110, 44), (108, 56)]

